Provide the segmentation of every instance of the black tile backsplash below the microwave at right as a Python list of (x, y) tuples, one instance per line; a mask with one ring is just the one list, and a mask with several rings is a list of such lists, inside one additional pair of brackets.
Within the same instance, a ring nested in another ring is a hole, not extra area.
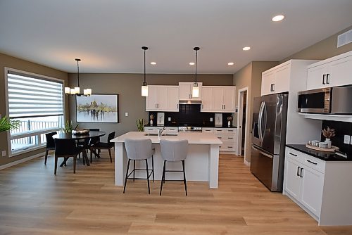
[[(352, 135), (352, 123), (323, 120), (322, 129), (326, 129), (327, 127), (335, 129), (335, 136), (331, 139), (332, 145), (339, 147), (341, 152), (352, 155), (352, 145), (344, 144), (344, 135)], [(322, 134), (321, 141), (325, 141), (325, 136)]]

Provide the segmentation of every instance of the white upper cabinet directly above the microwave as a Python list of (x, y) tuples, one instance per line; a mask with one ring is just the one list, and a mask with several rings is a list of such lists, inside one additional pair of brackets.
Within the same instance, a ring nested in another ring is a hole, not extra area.
[(308, 66), (307, 89), (352, 84), (352, 51)]

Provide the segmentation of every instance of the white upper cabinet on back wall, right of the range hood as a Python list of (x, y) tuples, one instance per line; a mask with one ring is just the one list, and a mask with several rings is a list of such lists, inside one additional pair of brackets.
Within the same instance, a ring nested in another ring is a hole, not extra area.
[(234, 113), (236, 87), (203, 87), (201, 112)]

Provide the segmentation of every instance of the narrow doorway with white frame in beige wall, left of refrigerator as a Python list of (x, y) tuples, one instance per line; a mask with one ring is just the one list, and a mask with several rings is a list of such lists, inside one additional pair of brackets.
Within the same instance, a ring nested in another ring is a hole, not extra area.
[(248, 121), (248, 87), (239, 89), (238, 95), (238, 115), (237, 115), (237, 130), (238, 130), (238, 148), (237, 155), (244, 156), (246, 160), (246, 142), (248, 134), (246, 133)]

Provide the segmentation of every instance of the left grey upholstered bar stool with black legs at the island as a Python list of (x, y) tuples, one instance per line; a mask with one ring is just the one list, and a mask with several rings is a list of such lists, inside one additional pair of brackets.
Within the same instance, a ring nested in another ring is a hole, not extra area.
[[(153, 149), (151, 148), (151, 139), (125, 139), (125, 148), (127, 152), (127, 170), (126, 170), (126, 177), (125, 177), (125, 186), (123, 186), (123, 193), (125, 193), (127, 179), (146, 179), (148, 182), (148, 193), (151, 193), (151, 189), (149, 186), (149, 177), (153, 174), (153, 181), (154, 181), (154, 160), (153, 160)], [(148, 169), (148, 159), (151, 158), (151, 170)], [(133, 160), (133, 170), (128, 173), (130, 168), (130, 161)], [(145, 160), (146, 161), (146, 169), (136, 169), (135, 168), (135, 161), (136, 160)], [(134, 172), (136, 170), (146, 170), (146, 178), (135, 178)], [(151, 173), (149, 174), (149, 171)], [(130, 175), (133, 173), (133, 177), (130, 178)]]

